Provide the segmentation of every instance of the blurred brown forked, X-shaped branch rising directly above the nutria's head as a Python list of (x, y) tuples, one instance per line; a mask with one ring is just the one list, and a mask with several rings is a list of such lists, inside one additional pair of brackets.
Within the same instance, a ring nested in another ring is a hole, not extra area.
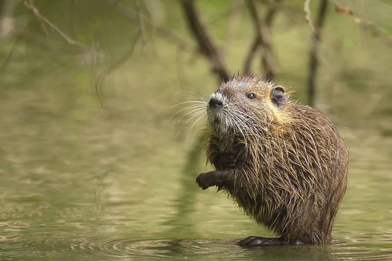
[[(274, 14), (268, 15), (270, 17), (270, 21), (269, 23), (267, 23), (267, 20), (261, 17), (260, 14), (258, 13), (258, 8), (254, 0), (247, 0), (246, 2), (247, 2), (249, 12), (252, 16), (254, 26), (256, 28), (256, 38), (252, 43), (252, 47), (250, 48), (247, 58), (245, 59), (244, 72), (245, 73), (250, 72), (250, 63), (252, 61), (252, 57), (254, 56), (254, 53), (257, 51), (260, 45), (261, 47), (263, 47), (263, 54), (261, 56), (261, 66), (263, 68), (265, 77), (267, 79), (272, 80), (278, 74), (278, 61), (276, 60), (272, 50), (271, 34), (269, 28), (272, 22), (272, 18), (274, 17)], [(271, 7), (271, 8), (274, 10), (270, 12), (275, 13), (276, 8), (275, 7)]]

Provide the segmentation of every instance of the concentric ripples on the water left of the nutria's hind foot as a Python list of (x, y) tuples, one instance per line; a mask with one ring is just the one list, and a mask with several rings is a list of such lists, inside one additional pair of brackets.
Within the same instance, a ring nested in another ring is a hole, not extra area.
[(252, 252), (243, 252), (233, 240), (205, 239), (129, 239), (129, 238), (90, 238), (73, 245), (74, 252), (84, 252), (88, 256), (98, 253), (106, 259), (162, 260), (184, 259), (189, 257), (215, 257), (223, 259), (249, 260)]

